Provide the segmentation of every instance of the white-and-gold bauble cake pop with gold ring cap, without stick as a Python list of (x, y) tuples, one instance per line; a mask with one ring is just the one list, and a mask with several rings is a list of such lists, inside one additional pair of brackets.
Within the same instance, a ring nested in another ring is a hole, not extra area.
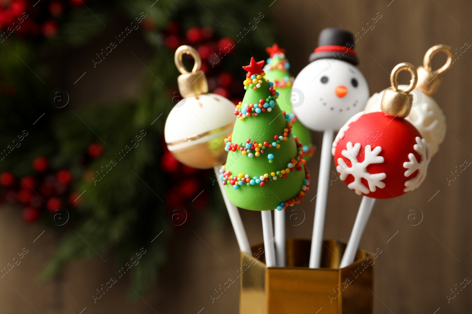
[[(195, 59), (192, 72), (182, 64), (182, 55)], [(209, 169), (226, 161), (224, 139), (233, 131), (235, 105), (227, 98), (210, 94), (201, 60), (190, 46), (177, 49), (175, 62), (182, 73), (178, 77), (181, 101), (167, 117), (164, 137), (169, 151), (187, 166)]]

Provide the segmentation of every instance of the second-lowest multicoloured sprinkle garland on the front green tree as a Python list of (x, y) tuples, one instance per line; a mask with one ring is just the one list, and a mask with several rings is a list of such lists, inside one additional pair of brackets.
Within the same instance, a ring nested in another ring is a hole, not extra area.
[[(233, 151), (236, 152), (236, 150), (241, 151), (243, 155), (247, 155), (249, 158), (253, 158), (254, 155), (256, 157), (259, 157), (261, 154), (265, 153), (266, 148), (280, 148), (280, 142), (281, 141), (287, 141), (288, 137), (292, 136), (292, 122), (290, 115), (285, 113), (285, 111), (282, 112), (285, 116), (285, 119), (287, 120), (287, 128), (283, 130), (282, 135), (275, 135), (274, 136), (274, 142), (269, 143), (267, 141), (263, 143), (257, 143), (255, 141), (251, 142), (251, 139), (248, 138), (246, 140), (246, 143), (239, 143), (239, 144), (234, 144), (231, 143), (231, 137), (229, 136), (228, 138), (225, 138), (225, 150), (227, 152)], [(269, 162), (272, 163), (274, 159), (273, 154), (268, 154), (267, 158), (269, 159)]]

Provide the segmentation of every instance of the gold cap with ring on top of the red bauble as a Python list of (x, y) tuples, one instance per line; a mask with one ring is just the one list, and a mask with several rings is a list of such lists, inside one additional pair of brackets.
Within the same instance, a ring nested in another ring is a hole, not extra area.
[[(400, 71), (408, 71), (412, 75), (410, 85), (405, 90), (398, 89), (398, 81), (396, 78)], [(416, 87), (418, 82), (418, 73), (413, 64), (402, 62), (397, 64), (390, 73), (391, 88), (385, 89), (380, 103), (380, 109), (383, 113), (394, 118), (406, 118), (410, 113), (413, 104), (413, 94), (411, 91)]]

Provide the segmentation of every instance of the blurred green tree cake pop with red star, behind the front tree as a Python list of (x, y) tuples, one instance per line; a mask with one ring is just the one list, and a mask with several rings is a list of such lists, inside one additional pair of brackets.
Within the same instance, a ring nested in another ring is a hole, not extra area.
[(274, 88), (279, 93), (277, 103), (280, 109), (290, 115), (293, 125), (292, 133), (303, 144), (303, 155), (305, 160), (309, 160), (315, 153), (315, 147), (312, 144), (310, 131), (300, 121), (297, 121), (295, 114), (292, 113), (290, 94), (294, 77), (288, 72), (290, 64), (285, 57), (285, 49), (279, 48), (277, 44), (273, 44), (272, 47), (267, 47), (266, 51), (270, 58), (267, 59), (264, 72), (267, 73), (267, 78), (273, 81)]

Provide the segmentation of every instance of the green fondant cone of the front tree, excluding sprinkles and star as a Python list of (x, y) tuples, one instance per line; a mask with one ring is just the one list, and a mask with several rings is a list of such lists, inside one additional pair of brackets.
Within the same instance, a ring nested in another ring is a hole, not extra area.
[[(244, 95), (242, 104), (259, 104), (260, 99), (266, 99), (270, 96), (269, 86), (265, 81), (257, 90), (248, 89)], [(267, 141), (274, 142), (275, 135), (282, 135), (283, 129), (287, 128), (287, 121), (280, 107), (275, 102), (275, 106), (271, 112), (259, 113), (253, 117), (246, 117), (244, 120), (236, 119), (232, 143), (246, 143), (248, 138), (258, 143)], [(294, 137), (288, 137), (287, 141), (280, 142), (280, 148), (266, 148), (259, 157), (254, 155), (249, 158), (242, 155), (240, 151), (228, 153), (226, 162), (226, 170), (237, 176), (242, 173), (248, 174), (251, 179), (260, 177), (265, 173), (277, 172), (287, 168), (287, 164), (292, 158), (298, 154)], [(274, 155), (273, 162), (270, 163), (267, 158), (268, 154)], [(266, 182), (265, 186), (260, 185), (242, 185), (237, 190), (233, 185), (226, 185), (226, 193), (231, 202), (237, 207), (249, 210), (270, 210), (275, 209), (281, 202), (285, 202), (294, 198), (303, 186), (305, 179), (305, 171), (298, 171), (293, 168), (286, 178), (278, 177), (277, 180)]]

